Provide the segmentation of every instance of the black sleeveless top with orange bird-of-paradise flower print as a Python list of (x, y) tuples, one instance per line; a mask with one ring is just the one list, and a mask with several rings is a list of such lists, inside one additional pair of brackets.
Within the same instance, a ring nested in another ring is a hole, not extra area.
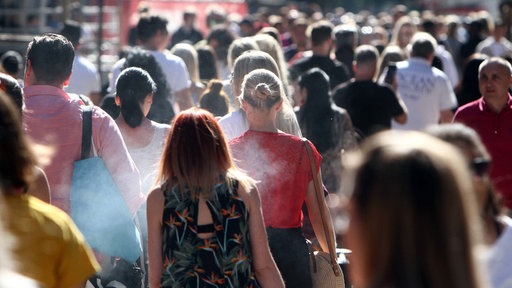
[(215, 232), (197, 236), (198, 199), (164, 191), (162, 287), (259, 287), (252, 267), (249, 213), (238, 184), (215, 186), (206, 201)]

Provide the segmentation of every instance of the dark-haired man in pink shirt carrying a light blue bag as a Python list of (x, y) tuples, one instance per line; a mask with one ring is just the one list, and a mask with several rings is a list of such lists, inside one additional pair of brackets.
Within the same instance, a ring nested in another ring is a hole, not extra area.
[[(26, 132), (33, 142), (50, 149), (43, 170), (51, 203), (68, 214), (73, 163), (80, 159), (82, 142), (83, 103), (62, 90), (71, 76), (74, 53), (73, 45), (61, 35), (35, 37), (28, 45), (24, 88)], [(98, 107), (92, 111), (94, 147), (135, 215), (144, 202), (139, 172), (114, 120)]]

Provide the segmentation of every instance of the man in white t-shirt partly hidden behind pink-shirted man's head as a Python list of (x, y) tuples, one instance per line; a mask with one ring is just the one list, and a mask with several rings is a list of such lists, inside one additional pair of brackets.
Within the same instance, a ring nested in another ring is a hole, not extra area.
[(74, 21), (67, 21), (60, 34), (66, 37), (75, 48), (71, 78), (64, 91), (85, 95), (94, 104), (99, 105), (101, 102), (101, 79), (98, 69), (91, 61), (78, 53), (80, 39), (82, 38), (80, 24)]

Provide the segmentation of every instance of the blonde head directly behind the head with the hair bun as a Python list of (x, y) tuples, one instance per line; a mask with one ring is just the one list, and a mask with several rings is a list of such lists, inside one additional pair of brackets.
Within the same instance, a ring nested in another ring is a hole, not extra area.
[(256, 69), (266, 69), (280, 77), (279, 68), (276, 61), (268, 53), (263, 51), (247, 51), (242, 53), (233, 65), (233, 75), (231, 85), (235, 96), (242, 93), (242, 82), (244, 76)]

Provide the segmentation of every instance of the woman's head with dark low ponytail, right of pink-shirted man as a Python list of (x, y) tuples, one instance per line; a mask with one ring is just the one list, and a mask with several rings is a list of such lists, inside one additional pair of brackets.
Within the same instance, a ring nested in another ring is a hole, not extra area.
[(121, 114), (128, 126), (139, 126), (145, 117), (142, 104), (156, 91), (156, 85), (148, 72), (138, 67), (124, 69), (116, 81), (116, 96), (119, 97)]

